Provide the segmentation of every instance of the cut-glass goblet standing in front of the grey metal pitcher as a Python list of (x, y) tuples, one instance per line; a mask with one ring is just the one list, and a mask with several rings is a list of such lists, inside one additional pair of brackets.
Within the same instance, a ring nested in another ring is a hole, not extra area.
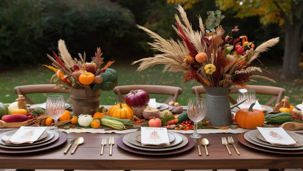
[(187, 106), (187, 115), (194, 122), (194, 133), (190, 137), (201, 138), (202, 136), (197, 133), (197, 125), (206, 115), (206, 100), (202, 98), (190, 98)]

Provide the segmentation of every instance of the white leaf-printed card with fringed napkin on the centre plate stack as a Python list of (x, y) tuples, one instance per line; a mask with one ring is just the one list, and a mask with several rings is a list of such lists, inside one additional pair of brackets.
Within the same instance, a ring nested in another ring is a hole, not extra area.
[(143, 146), (170, 146), (166, 128), (141, 127)]

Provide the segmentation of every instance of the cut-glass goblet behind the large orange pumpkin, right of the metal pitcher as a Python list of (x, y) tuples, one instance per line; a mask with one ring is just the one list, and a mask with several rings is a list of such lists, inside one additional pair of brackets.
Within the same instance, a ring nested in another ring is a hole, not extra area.
[(256, 92), (252, 89), (239, 89), (239, 91), (243, 94), (238, 93), (237, 103), (246, 99), (245, 102), (241, 106), (242, 108), (249, 108), (251, 104), (256, 103)]

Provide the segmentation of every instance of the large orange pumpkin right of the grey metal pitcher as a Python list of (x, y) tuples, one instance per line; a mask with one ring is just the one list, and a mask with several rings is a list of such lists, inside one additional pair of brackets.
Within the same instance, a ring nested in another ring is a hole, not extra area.
[(235, 120), (239, 127), (252, 130), (256, 127), (262, 127), (265, 116), (262, 110), (252, 109), (255, 103), (251, 104), (249, 109), (240, 109), (237, 111)]

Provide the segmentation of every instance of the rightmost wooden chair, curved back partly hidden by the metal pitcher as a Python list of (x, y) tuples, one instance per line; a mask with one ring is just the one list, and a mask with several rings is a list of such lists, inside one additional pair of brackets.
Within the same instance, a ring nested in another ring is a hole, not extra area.
[[(268, 100), (264, 105), (270, 106), (275, 100), (276, 104), (279, 103), (282, 99), (282, 96), (285, 95), (286, 90), (284, 88), (280, 87), (272, 87), (272, 86), (260, 86), (260, 85), (247, 85), (249, 89), (253, 89), (256, 91), (256, 94), (266, 94), (266, 95), (272, 95), (273, 97)], [(233, 87), (234, 88), (234, 87)], [(236, 86), (236, 89), (241, 89), (242, 87)], [(202, 97), (201, 94), (206, 94), (206, 91), (203, 86), (195, 86), (191, 88), (191, 92), (196, 95), (196, 97)], [(229, 94), (235, 94), (238, 93), (235, 90), (231, 90)], [(231, 104), (236, 104), (237, 101), (234, 100), (230, 95), (228, 95), (229, 102)]]

